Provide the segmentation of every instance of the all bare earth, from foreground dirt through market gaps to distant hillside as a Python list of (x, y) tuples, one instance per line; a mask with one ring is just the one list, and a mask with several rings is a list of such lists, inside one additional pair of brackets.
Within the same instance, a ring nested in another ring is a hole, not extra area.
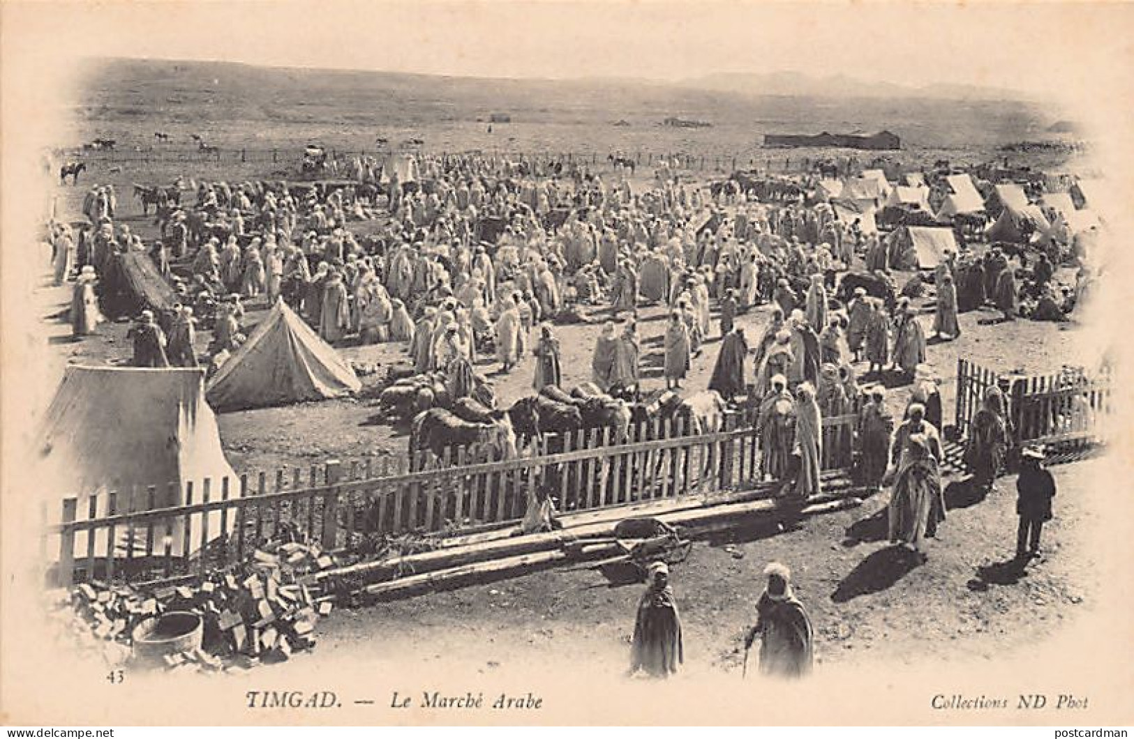
[[(280, 151), (294, 150), (313, 138), (340, 146), (340, 151), (361, 151), (372, 145), (375, 135), (389, 136), (391, 141), (415, 135), (425, 138), (432, 151), (498, 146), (501, 151), (522, 152), (590, 151), (600, 156), (616, 150), (685, 151), (710, 156), (738, 153), (743, 156), (748, 151), (756, 159), (770, 156), (753, 148), (758, 131), (887, 127), (912, 143), (897, 155), (904, 161), (941, 152), (958, 160), (981, 161), (999, 143), (1026, 137), (1036, 125), (1025, 110), (1012, 105), (997, 108), (1009, 112), (990, 117), (980, 104), (925, 103), (922, 108), (903, 108), (885, 101), (865, 105), (869, 114), (853, 112), (856, 109), (849, 103), (833, 110), (780, 102), (762, 117), (750, 118), (754, 122), (748, 125), (742, 119), (753, 108), (742, 104), (728, 108), (723, 104), (726, 99), (708, 93), (683, 101), (651, 100), (646, 95), (635, 101), (636, 109), (626, 111), (612, 109), (609, 95), (606, 99), (592, 95), (583, 96), (574, 109), (532, 103), (531, 110), (516, 114), (517, 124), (497, 127), (501, 133), (489, 138), (485, 127), (475, 122), (476, 117), (497, 109), (493, 101), (501, 100), (489, 93), (473, 102), (458, 96), (465, 101), (459, 110), (440, 97), (442, 102), (431, 103), (428, 95), (422, 95), (417, 108), (395, 113), (390, 112), (391, 101), (408, 94), (405, 92), (408, 86), (398, 88), (400, 92), (388, 91), (384, 97), (375, 96), (373, 91), (371, 97), (341, 90), (324, 92), (301, 105), (291, 104), (303, 91), (298, 82), (288, 97), (279, 88), (242, 95), (242, 90), (255, 88), (254, 76), (240, 83), (245, 87), (227, 80), (217, 85), (219, 92), (213, 92), (212, 86), (192, 79), (185, 82), (184, 90), (171, 86), (169, 76), (179, 74), (176, 69), (149, 77), (136, 70), (132, 74), (134, 77), (122, 77), (119, 73), (117, 78), (92, 82), (76, 126), (76, 138), (60, 142), (61, 146), (74, 146), (94, 136), (110, 136), (119, 139), (122, 151), (91, 158), (91, 169), (79, 187), (58, 187), (54, 195), (59, 215), (73, 219), (79, 211), (85, 185), (113, 184), (119, 192), (119, 221), (129, 223), (145, 237), (153, 235), (153, 227), (141, 216), (139, 205), (129, 201), (132, 182), (167, 182), (177, 175), (197, 179), (276, 179), (273, 172), (288, 167), (282, 161), (206, 163), (195, 154), (176, 154), (172, 150), (152, 154), (149, 147), (154, 130), (169, 131), (176, 138), (202, 131), (210, 143), (221, 146)], [(523, 91), (508, 94), (511, 97), (505, 95), (502, 100), (530, 99)], [(274, 105), (270, 102), (273, 95)], [(692, 108), (705, 101), (716, 101), (719, 110), (731, 111), (728, 113), (731, 118), (714, 128), (693, 131), (653, 125), (666, 114), (713, 119), (713, 111)], [(674, 108), (651, 110), (648, 107), (651, 102), (672, 103)], [(680, 108), (678, 102), (685, 107)], [(200, 116), (188, 116), (189, 111), (198, 110)], [(388, 114), (383, 118), (373, 112), (379, 110)], [(954, 110), (955, 117), (942, 119), (934, 112), (941, 110)], [(888, 116), (899, 113), (907, 117), (907, 126), (900, 121), (886, 122)], [(610, 126), (611, 120), (619, 118), (632, 126)], [(379, 126), (374, 120), (383, 122)], [(430, 122), (423, 122), (426, 120)], [(963, 138), (970, 133), (975, 138), (965, 147)], [(134, 146), (145, 151), (134, 151)], [(179, 146), (185, 148), (184, 144)], [(709, 173), (696, 175), (704, 178)], [(902, 277), (896, 277), (900, 284)], [(103, 324), (99, 335), (71, 342), (65, 313), (69, 292), (45, 284), (36, 291), (37, 307), (59, 364), (128, 360), (127, 324)], [(914, 305), (922, 311), (919, 320), (928, 335), (932, 296), (915, 300)], [(252, 307), (248, 323), (263, 315), (264, 306)], [(644, 308), (641, 314), (645, 387), (651, 389), (662, 384), (663, 321), (658, 308)], [(991, 311), (964, 314), (963, 335), (958, 340), (929, 347), (929, 364), (941, 379), (946, 423), (953, 421), (958, 356), (999, 371), (1019, 368), (1034, 373), (1085, 362), (1081, 330), (1075, 324), (982, 323), (995, 315)], [(767, 316), (765, 307), (738, 320), (751, 341), (761, 334)], [(601, 321), (606, 316), (599, 313), (594, 317)], [(598, 332), (599, 325), (594, 324), (557, 329), (564, 350), (565, 384), (590, 379)], [(203, 350), (209, 339), (206, 332), (200, 332), (198, 349)], [(714, 339), (694, 360), (686, 388), (700, 390), (706, 385), (718, 346)], [(353, 360), (375, 363), (383, 370), (403, 356), (396, 345), (341, 351)], [(508, 375), (493, 374), (497, 368), (493, 363), (480, 370), (492, 379), (501, 405), (530, 392), (531, 357)], [(856, 368), (865, 371), (862, 365)], [(752, 375), (751, 367), (746, 375)], [(890, 402), (896, 411), (904, 408), (907, 393), (906, 388), (891, 392)], [(330, 458), (354, 460), (403, 453), (405, 438), (389, 426), (374, 423), (374, 405), (370, 400), (341, 400), (225, 414), (219, 416), (221, 438), (238, 473), (307, 466)], [(1015, 481), (1010, 477), (998, 481), (996, 490), (983, 501), (966, 499), (963, 487), (954, 489), (949, 519), (940, 538), (931, 543), (924, 564), (903, 558), (882, 541), (888, 499), (885, 492), (858, 509), (807, 519), (793, 530), (737, 532), (729, 540), (696, 543), (689, 559), (675, 568), (672, 577), (684, 619), (688, 673), (739, 670), (742, 632), (752, 622), (760, 574), (771, 560), (788, 563), (795, 572), (798, 595), (810, 609), (816, 628), (816, 655), (822, 664), (868, 659), (907, 663), (991, 659), (1004, 656), (1006, 648), (1035, 643), (1092, 605), (1089, 594), (1095, 592), (1097, 583), (1083, 543), (1097, 520), (1099, 492), (1084, 484), (1093, 464), (1055, 468), (1060, 490), (1056, 519), (1044, 528), (1046, 554), (1022, 574), (1014, 574), (1004, 563), (1015, 545)], [(950, 477), (947, 482), (955, 479)], [(735, 550), (726, 551), (723, 546), (728, 544)], [(482, 670), (515, 664), (545, 664), (555, 669), (578, 664), (578, 655), (586, 654), (587, 664), (596, 674), (613, 676), (626, 665), (627, 639), (638, 595), (638, 587), (609, 586), (595, 572), (549, 570), (396, 603), (340, 610), (320, 625), (321, 640), (314, 656), (294, 660), (273, 674), (303, 674), (313, 665), (340, 657), (364, 661), (375, 669), (383, 663), (429, 666), (440, 660), (483, 665)]]

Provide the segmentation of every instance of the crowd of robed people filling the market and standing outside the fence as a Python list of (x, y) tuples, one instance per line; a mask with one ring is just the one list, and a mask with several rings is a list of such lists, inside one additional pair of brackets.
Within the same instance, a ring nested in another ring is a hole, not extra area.
[[(758, 431), (761, 473), (785, 492), (820, 492), (822, 419), (854, 416), (855, 474), (869, 487), (891, 486), (889, 538), (924, 555), (924, 538), (946, 512), (940, 392), (908, 296), (890, 305), (860, 287), (845, 303), (835, 297), (848, 271), (889, 272), (888, 245), (860, 220), (802, 196), (761, 203), (672, 173), (642, 188), (585, 165), (451, 155), (420, 156), (413, 181), (403, 182), (397, 172), (383, 179), (375, 164), (352, 164), (369, 189), (194, 184), (184, 202), (159, 203), (160, 237), (149, 245), (115, 224), (113, 189), (92, 188), (83, 206), (88, 223), (76, 233), (52, 222), (48, 236), (56, 282), (77, 271), (75, 334), (95, 331), (99, 275), (112, 273), (115, 255), (136, 250), (152, 257), (180, 300), (160, 314), (142, 311), (129, 333), (141, 366), (196, 366), (202, 320), (212, 328), (208, 358), (223, 356), (246, 333), (246, 303), (282, 299), (331, 345), (400, 342), (415, 372), (443, 371), (465, 385), (477, 364), (499, 363), (508, 373), (528, 355), (532, 388), (558, 385), (555, 325), (600, 322), (592, 380), (635, 396), (643, 346), (653, 339), (643, 335), (640, 314), (657, 306), (666, 316), (658, 326), (666, 387), (682, 389), (706, 342), (719, 340), (708, 387)], [(1081, 284), (1065, 295), (1047, 255), (1017, 258), (1014, 266), (998, 248), (946, 254), (931, 278), (931, 335), (957, 339), (958, 314), (989, 303), (1004, 320), (1063, 320), (1092, 280), (1081, 270)], [(761, 306), (768, 322), (750, 338), (738, 317)], [(856, 365), (865, 365), (861, 376)], [(897, 423), (886, 390), (895, 383), (913, 384)], [(991, 484), (1010, 434), (1002, 396), (984, 400), (966, 462)], [(1038, 546), (1031, 511), (1042, 506), (1025, 508), (1021, 541), (1034, 537)], [(803, 674), (810, 623), (786, 568), (768, 576), (754, 629), (763, 637), (762, 669)], [(651, 572), (635, 629), (634, 664), (655, 673), (682, 660), (667, 577), (665, 568)]]

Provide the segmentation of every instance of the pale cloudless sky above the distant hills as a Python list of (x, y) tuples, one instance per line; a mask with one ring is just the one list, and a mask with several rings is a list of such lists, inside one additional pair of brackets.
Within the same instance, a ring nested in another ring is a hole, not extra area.
[[(1129, 3), (6, 2), (39, 53), (477, 77), (796, 70), (1074, 91), (1134, 67)], [(11, 25), (9, 24), (9, 28)], [(6, 41), (11, 39), (8, 35)]]

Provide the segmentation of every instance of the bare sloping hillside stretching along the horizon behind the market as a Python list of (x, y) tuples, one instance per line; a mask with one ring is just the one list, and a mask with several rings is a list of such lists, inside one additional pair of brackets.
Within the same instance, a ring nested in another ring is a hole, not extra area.
[[(759, 147), (769, 133), (883, 129), (900, 136), (904, 147), (993, 151), (1034, 138), (1055, 119), (1029, 101), (890, 97), (881, 94), (886, 86), (821, 80), (820, 87), (845, 88), (837, 96), (794, 84), (801, 77), (793, 73), (777, 79), (778, 86), (768, 90), (815, 94), (737, 92), (721, 79), (712, 88), (687, 80), (483, 79), (119, 58), (90, 61), (71, 112), (77, 139), (110, 136), (134, 145), (151, 145), (154, 130), (169, 130), (203, 131), (211, 143), (253, 146), (320, 138), (364, 147), (375, 136), (414, 135), (448, 151), (513, 146), (722, 153)], [(751, 76), (745, 80), (751, 86)], [(873, 94), (847, 96), (863, 93), (863, 85)], [(513, 122), (488, 136), (482, 124), (492, 113), (507, 113)], [(712, 127), (667, 130), (660, 124), (670, 117)], [(613, 127), (621, 120), (628, 125)]]

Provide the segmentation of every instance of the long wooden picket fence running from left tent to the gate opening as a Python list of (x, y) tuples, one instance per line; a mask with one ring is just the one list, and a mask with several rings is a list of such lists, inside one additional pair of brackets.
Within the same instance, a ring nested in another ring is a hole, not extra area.
[[(100, 491), (62, 501), (58, 523), (45, 523), (43, 560), (57, 552), (49, 568), (57, 585), (174, 583), (242, 562), (273, 538), (357, 553), (398, 536), (516, 525), (538, 494), (558, 499), (566, 512), (650, 501), (713, 504), (758, 489), (775, 496), (779, 486), (762, 483), (756, 430), (736, 427), (733, 418), (722, 431), (697, 435), (654, 421), (632, 427), (623, 443), (612, 443), (609, 428), (577, 432), (539, 440), (528, 456), (502, 461), (469, 462), (458, 449), (426, 469), (382, 458), (185, 483), (184, 498), (159, 495), (156, 485)], [(853, 466), (856, 418), (823, 419), (828, 477)], [(549, 448), (555, 453), (541, 453)], [(185, 503), (155, 509), (156, 500)]]

